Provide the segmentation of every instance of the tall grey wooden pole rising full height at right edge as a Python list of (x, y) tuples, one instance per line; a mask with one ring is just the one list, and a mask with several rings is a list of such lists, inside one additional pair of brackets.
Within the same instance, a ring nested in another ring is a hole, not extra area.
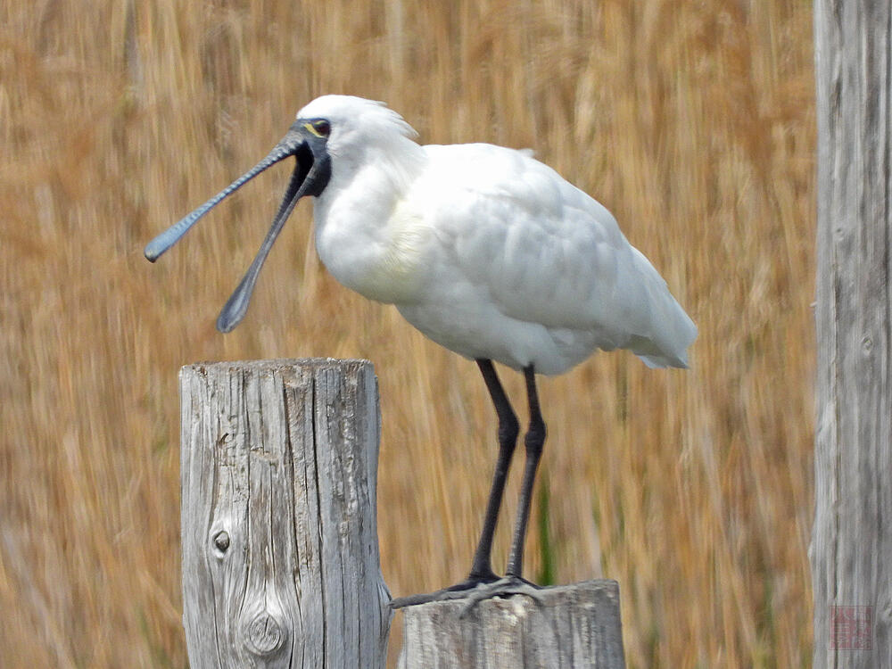
[(815, 667), (892, 667), (890, 21), (815, 0)]

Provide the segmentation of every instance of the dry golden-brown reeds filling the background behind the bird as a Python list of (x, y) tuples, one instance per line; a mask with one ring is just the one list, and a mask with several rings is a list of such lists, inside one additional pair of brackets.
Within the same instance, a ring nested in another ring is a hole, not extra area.
[(406, 594), (467, 569), (483, 383), (335, 284), (309, 203), (244, 324), (213, 329), (287, 169), (141, 255), (335, 92), (425, 142), (533, 147), (698, 322), (689, 372), (622, 353), (542, 383), (533, 573), (618, 579), (630, 667), (807, 665), (812, 76), (800, 0), (0, 5), (0, 664), (186, 665), (177, 371), (196, 360), (372, 359), (385, 578)]

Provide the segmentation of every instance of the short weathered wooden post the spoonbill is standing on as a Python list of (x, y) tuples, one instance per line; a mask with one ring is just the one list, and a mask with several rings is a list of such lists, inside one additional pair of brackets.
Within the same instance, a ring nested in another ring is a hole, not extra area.
[(615, 581), (525, 595), (403, 608), (400, 669), (621, 669), (625, 666)]

